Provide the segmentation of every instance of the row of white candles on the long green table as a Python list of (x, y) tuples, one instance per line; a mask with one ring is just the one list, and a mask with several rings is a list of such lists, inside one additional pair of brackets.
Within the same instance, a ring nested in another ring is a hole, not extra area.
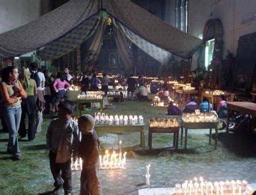
[(142, 115), (109, 115), (105, 113), (95, 113), (95, 124), (108, 124), (108, 125), (136, 125), (137, 123), (143, 123)]

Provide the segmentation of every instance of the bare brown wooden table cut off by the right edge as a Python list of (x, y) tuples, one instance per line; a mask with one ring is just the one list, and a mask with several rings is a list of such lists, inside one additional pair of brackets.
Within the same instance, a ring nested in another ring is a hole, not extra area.
[(254, 119), (256, 117), (256, 103), (251, 102), (227, 102), (227, 127), (226, 132), (229, 132), (229, 121), (231, 110), (238, 111), (240, 114), (250, 114), (253, 116), (252, 128), (254, 131)]

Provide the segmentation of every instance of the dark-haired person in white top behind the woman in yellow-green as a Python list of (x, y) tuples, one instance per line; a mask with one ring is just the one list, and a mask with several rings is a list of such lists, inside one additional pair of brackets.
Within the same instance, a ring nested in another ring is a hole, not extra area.
[(38, 69), (38, 65), (33, 62), (30, 64), (31, 67), (31, 78), (33, 78), (36, 82), (37, 87), (37, 100), (36, 100), (36, 132), (42, 131), (42, 123), (43, 123), (43, 110), (45, 105), (45, 100), (43, 97), (43, 90), (44, 90), (44, 74), (40, 72)]

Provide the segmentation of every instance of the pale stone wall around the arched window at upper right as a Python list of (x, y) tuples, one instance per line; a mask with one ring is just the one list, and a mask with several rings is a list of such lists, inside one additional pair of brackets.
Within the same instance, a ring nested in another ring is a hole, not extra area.
[(256, 32), (255, 0), (189, 0), (188, 33), (202, 37), (209, 19), (218, 18), (224, 27), (224, 57), (236, 54), (240, 36)]

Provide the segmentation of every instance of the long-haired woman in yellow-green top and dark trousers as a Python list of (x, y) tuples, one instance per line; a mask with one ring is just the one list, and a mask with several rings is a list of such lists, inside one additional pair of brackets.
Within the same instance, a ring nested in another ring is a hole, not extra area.
[[(37, 88), (36, 82), (34, 79), (30, 78), (30, 70), (28, 67), (22, 67), (21, 75), (19, 76), (21, 84), (27, 93), (27, 98), (22, 98), (21, 103), (21, 125), (19, 126), (19, 136), (25, 138), (26, 135), (31, 141), (35, 139), (35, 115), (36, 115), (36, 95)], [(26, 130), (25, 118), (26, 114), (29, 117), (29, 127), (28, 131)]]

